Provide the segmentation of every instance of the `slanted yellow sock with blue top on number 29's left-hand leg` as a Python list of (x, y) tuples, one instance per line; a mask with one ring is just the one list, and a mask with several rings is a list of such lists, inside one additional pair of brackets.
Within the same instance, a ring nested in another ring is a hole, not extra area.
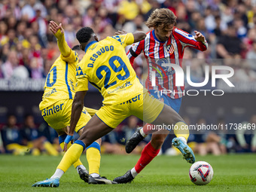
[(61, 169), (66, 172), (72, 164), (74, 164), (85, 149), (85, 144), (81, 140), (75, 141), (75, 143), (69, 148), (68, 151), (62, 157), (57, 169)]

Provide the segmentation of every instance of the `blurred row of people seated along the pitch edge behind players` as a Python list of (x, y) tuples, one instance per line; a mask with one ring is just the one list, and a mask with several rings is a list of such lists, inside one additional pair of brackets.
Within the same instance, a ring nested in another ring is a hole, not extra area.
[[(189, 125), (190, 119), (184, 117)], [(216, 124), (224, 125), (226, 122), (220, 118)], [(256, 124), (256, 114), (252, 115), (248, 121), (242, 122), (242, 126), (247, 124)], [(199, 118), (197, 125), (206, 125), (206, 119)], [(101, 151), (104, 154), (126, 154), (124, 145), (127, 139), (133, 135), (137, 126), (141, 126), (142, 122), (135, 116), (128, 117), (126, 122), (117, 126), (111, 133), (102, 137)], [(252, 127), (252, 126), (251, 126)], [(31, 114), (24, 117), (24, 123), (17, 124), (17, 118), (14, 114), (8, 116), (8, 121), (0, 127), (0, 154), (12, 153), (16, 155), (32, 154), (49, 154), (59, 155), (62, 153), (59, 147), (58, 136), (47, 123), (36, 125)], [(172, 148), (171, 141), (175, 136), (170, 134), (167, 136), (163, 144), (160, 154), (178, 155), (180, 152), (176, 148)], [(78, 139), (78, 135), (75, 135)], [(133, 151), (133, 154), (140, 154), (145, 145), (150, 141), (151, 135), (142, 141)], [(196, 154), (221, 155), (227, 153), (251, 153), (256, 152), (256, 130), (236, 130), (235, 133), (229, 133), (228, 130), (200, 130), (191, 133), (188, 145)]]

